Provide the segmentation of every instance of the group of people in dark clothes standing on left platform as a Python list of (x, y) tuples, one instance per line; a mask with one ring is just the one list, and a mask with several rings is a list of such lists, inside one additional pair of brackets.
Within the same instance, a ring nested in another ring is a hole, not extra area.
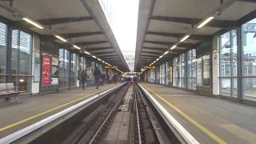
[[(111, 83), (110, 75), (102, 74), (101, 70), (98, 70), (98, 67), (95, 67), (94, 78), (95, 78), (96, 89), (98, 89), (98, 86), (100, 84), (104, 85), (105, 83)], [(112, 78), (112, 82), (116, 84), (117, 81), (118, 81), (118, 74), (114, 74)], [(86, 70), (82, 70), (82, 73), (80, 74), (80, 82), (82, 84), (82, 90), (86, 90), (86, 82), (87, 82)]]

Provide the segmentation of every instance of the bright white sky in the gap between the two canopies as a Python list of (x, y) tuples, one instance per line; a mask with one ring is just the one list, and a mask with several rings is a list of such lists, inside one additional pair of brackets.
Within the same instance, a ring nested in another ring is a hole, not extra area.
[(130, 70), (134, 58), (138, 24), (138, 0), (98, 0)]

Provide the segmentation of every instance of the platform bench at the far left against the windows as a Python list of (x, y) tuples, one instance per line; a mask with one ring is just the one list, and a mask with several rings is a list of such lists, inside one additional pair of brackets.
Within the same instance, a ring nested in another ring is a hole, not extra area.
[(0, 83), (0, 98), (10, 100), (10, 97), (18, 99), (17, 95), (20, 91), (15, 90), (14, 83)]

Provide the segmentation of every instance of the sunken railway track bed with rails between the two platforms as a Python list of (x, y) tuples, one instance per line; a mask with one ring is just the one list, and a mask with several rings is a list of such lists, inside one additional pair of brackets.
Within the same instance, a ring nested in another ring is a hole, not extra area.
[(124, 84), (86, 103), (73, 116), (64, 116), (66, 120), (54, 127), (46, 126), (46, 130), (24, 136), (26, 141), (13, 143), (190, 143), (180, 141), (161, 113), (140, 86)]

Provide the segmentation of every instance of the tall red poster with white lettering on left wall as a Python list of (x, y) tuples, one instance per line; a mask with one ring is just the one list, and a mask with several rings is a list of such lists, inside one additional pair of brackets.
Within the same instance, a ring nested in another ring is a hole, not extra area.
[(50, 64), (51, 64), (51, 55), (42, 54), (42, 84), (45, 86), (50, 85)]

